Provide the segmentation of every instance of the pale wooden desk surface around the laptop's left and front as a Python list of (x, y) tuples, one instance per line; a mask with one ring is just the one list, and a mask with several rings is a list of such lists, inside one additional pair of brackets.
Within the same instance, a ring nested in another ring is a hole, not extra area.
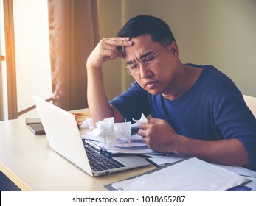
[(0, 171), (22, 191), (107, 191), (103, 185), (153, 168), (91, 177), (50, 149), (45, 135), (34, 135), (24, 118), (0, 121)]

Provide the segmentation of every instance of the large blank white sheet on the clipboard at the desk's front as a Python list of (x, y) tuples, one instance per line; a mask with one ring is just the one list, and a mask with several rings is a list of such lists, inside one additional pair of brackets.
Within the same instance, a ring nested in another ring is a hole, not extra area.
[(248, 181), (194, 157), (111, 186), (119, 191), (226, 191)]

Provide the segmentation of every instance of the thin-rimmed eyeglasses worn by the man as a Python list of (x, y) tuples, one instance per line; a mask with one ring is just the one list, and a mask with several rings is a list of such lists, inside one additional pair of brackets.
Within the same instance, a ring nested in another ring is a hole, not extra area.
[(139, 63), (131, 63), (129, 65), (127, 65), (125, 67), (125, 71), (129, 74), (129, 75), (135, 75), (135, 74), (139, 74), (140, 71), (140, 65), (143, 65), (145, 67), (150, 67), (154, 64), (156, 64), (157, 62), (157, 56), (160, 54), (160, 52), (162, 50), (164, 50), (167, 47), (167, 45), (165, 45), (158, 53), (156, 54), (149, 54), (146, 57), (143, 57), (141, 60), (139, 60)]

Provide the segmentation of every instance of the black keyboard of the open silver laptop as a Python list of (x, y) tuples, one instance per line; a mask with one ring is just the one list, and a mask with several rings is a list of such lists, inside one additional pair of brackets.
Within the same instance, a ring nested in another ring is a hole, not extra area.
[(89, 163), (94, 171), (103, 171), (113, 168), (125, 167), (124, 164), (120, 163), (114, 158), (106, 157), (104, 154), (100, 154), (100, 152), (98, 152), (96, 149), (92, 148), (88, 144), (85, 143), (84, 146), (86, 148), (86, 154), (89, 159)]

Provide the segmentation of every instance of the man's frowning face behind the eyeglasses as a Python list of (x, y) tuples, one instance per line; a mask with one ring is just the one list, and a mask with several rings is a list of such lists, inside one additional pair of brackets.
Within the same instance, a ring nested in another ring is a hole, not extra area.
[(139, 61), (148, 54), (157, 54), (156, 63), (146, 67), (139, 64), (139, 73), (133, 74), (138, 84), (149, 93), (156, 95), (162, 93), (168, 95), (175, 82), (178, 66), (176, 57), (171, 52), (172, 44), (161, 51), (163, 46), (160, 43), (153, 42), (151, 35), (142, 35), (132, 38), (132, 46), (124, 48), (125, 61), (128, 64), (139, 63)]

